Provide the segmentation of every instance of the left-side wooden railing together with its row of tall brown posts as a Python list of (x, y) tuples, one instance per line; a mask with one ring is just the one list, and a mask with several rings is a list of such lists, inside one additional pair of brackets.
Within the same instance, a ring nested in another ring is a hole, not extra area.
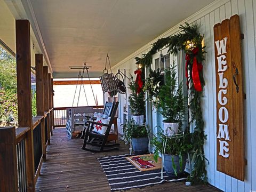
[(19, 126), (0, 129), (0, 191), (35, 191), (53, 127), (53, 79), (43, 54), (35, 54), (36, 117), (31, 113), (30, 23), (15, 21)]

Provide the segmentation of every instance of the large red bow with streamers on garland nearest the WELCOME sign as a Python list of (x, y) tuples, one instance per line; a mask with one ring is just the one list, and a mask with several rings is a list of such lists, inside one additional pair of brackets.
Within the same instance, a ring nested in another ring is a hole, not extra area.
[[(196, 55), (199, 51), (198, 47), (192, 50), (193, 54)], [(186, 54), (186, 77), (187, 77), (187, 86), (188, 86), (188, 63), (190, 61), (189, 54)], [(193, 67), (192, 67), (192, 80), (196, 91), (202, 91), (202, 85), (200, 82), (199, 72), (203, 70), (202, 63), (198, 63), (196, 56), (193, 58)]]

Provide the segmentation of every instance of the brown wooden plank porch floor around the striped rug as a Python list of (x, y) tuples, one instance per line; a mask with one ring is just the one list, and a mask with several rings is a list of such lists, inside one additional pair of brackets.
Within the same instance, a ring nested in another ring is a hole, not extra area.
[[(82, 139), (68, 139), (66, 130), (55, 129), (51, 146), (47, 147), (47, 161), (43, 163), (36, 191), (110, 191), (98, 157), (128, 154), (123, 143), (119, 150), (109, 153), (90, 153), (81, 149)], [(210, 186), (186, 187), (185, 182), (163, 183), (131, 191), (218, 191)]]

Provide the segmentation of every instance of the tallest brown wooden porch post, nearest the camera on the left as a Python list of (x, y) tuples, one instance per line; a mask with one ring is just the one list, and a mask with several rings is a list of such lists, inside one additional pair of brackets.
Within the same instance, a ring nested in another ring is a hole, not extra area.
[(35, 191), (31, 111), (30, 24), (28, 20), (16, 20), (16, 63), (19, 126), (30, 127), (25, 139), (27, 191)]

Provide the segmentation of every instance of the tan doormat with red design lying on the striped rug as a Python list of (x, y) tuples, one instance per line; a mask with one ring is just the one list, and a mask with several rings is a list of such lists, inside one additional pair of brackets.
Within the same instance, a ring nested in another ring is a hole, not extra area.
[(151, 171), (161, 169), (162, 159), (158, 157), (157, 163), (154, 160), (154, 154), (147, 155), (134, 155), (130, 157), (125, 157), (128, 161), (130, 161), (137, 169), (140, 171)]

